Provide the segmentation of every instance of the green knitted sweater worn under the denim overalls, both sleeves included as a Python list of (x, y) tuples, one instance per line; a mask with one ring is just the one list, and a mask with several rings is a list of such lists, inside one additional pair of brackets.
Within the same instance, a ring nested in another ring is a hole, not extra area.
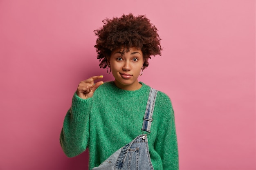
[[(73, 96), (64, 119), (60, 141), (68, 157), (89, 148), (89, 169), (99, 166), (112, 153), (141, 135), (150, 87), (136, 91), (105, 82), (92, 98)], [(148, 147), (155, 170), (178, 170), (178, 149), (174, 113), (169, 97), (157, 93)]]

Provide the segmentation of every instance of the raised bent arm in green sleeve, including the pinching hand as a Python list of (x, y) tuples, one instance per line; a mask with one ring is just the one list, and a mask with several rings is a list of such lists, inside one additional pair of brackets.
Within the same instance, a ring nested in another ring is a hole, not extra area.
[(94, 91), (103, 84), (102, 81), (94, 84), (94, 80), (102, 77), (93, 76), (81, 81), (72, 98), (72, 106), (67, 111), (60, 135), (61, 147), (67, 157), (81, 154), (88, 146), (92, 96)]

